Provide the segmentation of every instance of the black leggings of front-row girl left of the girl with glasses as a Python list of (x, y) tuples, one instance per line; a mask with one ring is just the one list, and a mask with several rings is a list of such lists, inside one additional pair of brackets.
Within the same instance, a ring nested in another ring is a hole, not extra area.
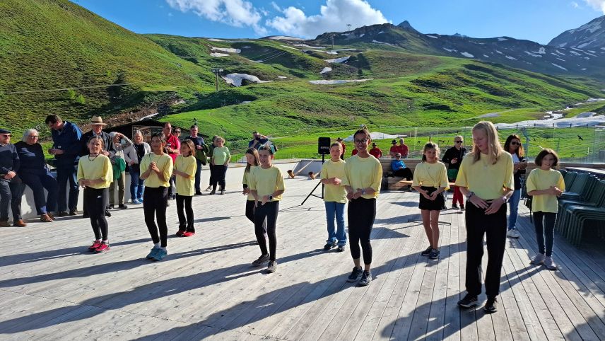
[(257, 236), (257, 241), (259, 242), (262, 254), (266, 255), (266, 241), (264, 238), (264, 233), (266, 231), (266, 234), (269, 237), (269, 260), (275, 260), (275, 251), (277, 249), (277, 236), (275, 229), (278, 212), (278, 201), (266, 202), (264, 205), (262, 205), (261, 202), (258, 202), (257, 208), (254, 210), (254, 234)]

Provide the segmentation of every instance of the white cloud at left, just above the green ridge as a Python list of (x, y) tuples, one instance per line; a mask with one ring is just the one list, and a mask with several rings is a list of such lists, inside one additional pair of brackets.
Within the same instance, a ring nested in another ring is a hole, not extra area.
[(182, 12), (193, 11), (198, 16), (236, 27), (249, 26), (259, 35), (266, 33), (260, 25), (262, 13), (245, 0), (166, 0)]

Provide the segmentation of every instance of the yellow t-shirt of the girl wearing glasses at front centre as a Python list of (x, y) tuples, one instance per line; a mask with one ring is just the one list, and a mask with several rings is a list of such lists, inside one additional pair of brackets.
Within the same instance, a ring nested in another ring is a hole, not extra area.
[(362, 195), (365, 199), (377, 198), (380, 194), (380, 183), (382, 182), (382, 166), (374, 156), (360, 158), (358, 155), (351, 156), (346, 160), (344, 167), (345, 177), (343, 186), (353, 187), (353, 191), (372, 187), (374, 194)]

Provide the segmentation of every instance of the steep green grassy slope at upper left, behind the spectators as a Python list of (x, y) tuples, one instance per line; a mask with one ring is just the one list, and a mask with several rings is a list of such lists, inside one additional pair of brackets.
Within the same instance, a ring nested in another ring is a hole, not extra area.
[[(211, 89), (208, 69), (69, 1), (4, 0), (0, 18), (0, 126), (30, 127), (49, 112), (80, 120)], [(128, 85), (109, 86), (117, 83)], [(47, 91), (78, 87), (86, 88)]]

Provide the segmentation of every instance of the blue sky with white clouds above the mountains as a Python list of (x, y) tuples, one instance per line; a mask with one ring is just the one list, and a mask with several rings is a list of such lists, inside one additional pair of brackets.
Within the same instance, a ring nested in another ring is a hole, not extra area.
[[(605, 12), (605, 0), (73, 0), (136, 33), (315, 37), (407, 20), (422, 33), (548, 43)], [(323, 10), (322, 10), (323, 6)]]

